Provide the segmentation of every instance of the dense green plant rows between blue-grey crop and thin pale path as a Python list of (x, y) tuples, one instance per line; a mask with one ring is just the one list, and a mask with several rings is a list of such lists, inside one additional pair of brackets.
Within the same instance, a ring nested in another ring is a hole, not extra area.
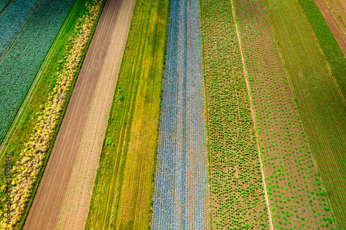
[(231, 3), (202, 0), (212, 229), (271, 229)]

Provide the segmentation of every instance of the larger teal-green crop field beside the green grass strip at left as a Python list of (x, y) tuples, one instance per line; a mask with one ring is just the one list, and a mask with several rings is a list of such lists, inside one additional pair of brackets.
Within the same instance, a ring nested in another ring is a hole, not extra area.
[[(74, 0), (44, 0), (0, 64), (0, 142)], [(52, 17), (54, 15), (54, 17)]]

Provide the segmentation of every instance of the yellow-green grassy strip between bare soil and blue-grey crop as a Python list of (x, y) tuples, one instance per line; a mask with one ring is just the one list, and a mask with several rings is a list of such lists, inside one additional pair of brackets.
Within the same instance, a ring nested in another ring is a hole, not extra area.
[(151, 222), (169, 4), (138, 0), (134, 8), (86, 229)]

